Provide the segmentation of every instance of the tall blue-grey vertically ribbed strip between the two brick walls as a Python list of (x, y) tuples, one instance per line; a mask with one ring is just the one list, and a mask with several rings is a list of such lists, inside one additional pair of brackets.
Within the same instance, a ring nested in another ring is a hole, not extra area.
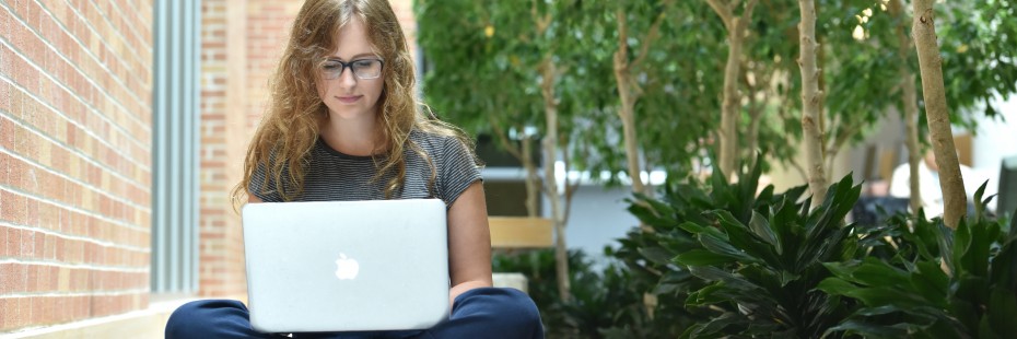
[(199, 1), (155, 1), (152, 292), (198, 291)]

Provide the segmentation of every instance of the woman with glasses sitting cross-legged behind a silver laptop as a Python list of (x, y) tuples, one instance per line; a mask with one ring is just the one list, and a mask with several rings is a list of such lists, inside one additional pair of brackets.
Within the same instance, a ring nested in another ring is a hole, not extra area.
[[(483, 187), (468, 140), (421, 112), (413, 62), (386, 0), (308, 0), (233, 197), (248, 202), (440, 198), (447, 207), (452, 315), (424, 331), (294, 337), (542, 338), (536, 306), (491, 288)], [(236, 301), (198, 301), (167, 338), (276, 337)]]

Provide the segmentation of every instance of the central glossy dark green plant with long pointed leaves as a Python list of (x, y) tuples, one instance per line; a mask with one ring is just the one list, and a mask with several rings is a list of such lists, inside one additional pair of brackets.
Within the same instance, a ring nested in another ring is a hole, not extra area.
[(716, 306), (721, 315), (690, 327), (687, 337), (787, 336), (818, 338), (852, 311), (851, 303), (816, 290), (831, 277), (822, 262), (857, 255), (854, 227), (844, 225), (861, 194), (851, 176), (833, 185), (815, 209), (784, 198), (740, 221), (716, 211), (716, 225), (683, 223), (702, 249), (675, 262), (709, 282), (689, 295), (689, 306)]

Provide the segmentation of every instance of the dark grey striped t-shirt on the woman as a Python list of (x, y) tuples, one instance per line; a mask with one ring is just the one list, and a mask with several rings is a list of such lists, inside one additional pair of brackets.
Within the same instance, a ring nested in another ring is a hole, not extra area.
[[(414, 130), (410, 132), (409, 140), (417, 143), (434, 163), (437, 172), (434, 192), (432, 195), (428, 189), (431, 166), (407, 145), (404, 150), (406, 180), (393, 192), (393, 199), (437, 198), (445, 201), (447, 208), (470, 184), (481, 179), (480, 168), (458, 139)], [(340, 153), (318, 138), (304, 167), (304, 191), (293, 201), (385, 199), (385, 185), (395, 174), (374, 178), (382, 160), (378, 159), (376, 165), (371, 156)], [(288, 175), (283, 173), (282, 177), (284, 180)], [(265, 168), (258, 166), (250, 176), (250, 191), (266, 202), (282, 201), (273, 180), (269, 180), (269, 187), (262, 189), (265, 183)], [(283, 182), (283, 187), (287, 186)]]

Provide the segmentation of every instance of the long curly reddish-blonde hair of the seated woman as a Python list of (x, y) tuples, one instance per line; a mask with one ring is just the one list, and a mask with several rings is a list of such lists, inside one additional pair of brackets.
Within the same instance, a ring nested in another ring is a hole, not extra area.
[(284, 201), (303, 194), (307, 155), (319, 138), (319, 127), (328, 119), (328, 107), (316, 90), (316, 83), (324, 81), (319, 69), (326, 56), (336, 49), (339, 31), (354, 17), (364, 24), (369, 40), (385, 60), (384, 85), (375, 116), (382, 144), (388, 147), (387, 156), (375, 159), (379, 167), (375, 179), (385, 173), (395, 174), (385, 185), (385, 197), (391, 198), (406, 180), (407, 148), (430, 164), (429, 188), (433, 192), (434, 164), (409, 140), (411, 130), (455, 137), (472, 149), (461, 130), (437, 120), (418, 98), (413, 60), (387, 0), (307, 0), (270, 80), (271, 102), (247, 149), (244, 178), (232, 192), (234, 207), (246, 202), (252, 175), (259, 166), (265, 171), (261, 194), (274, 190)]

